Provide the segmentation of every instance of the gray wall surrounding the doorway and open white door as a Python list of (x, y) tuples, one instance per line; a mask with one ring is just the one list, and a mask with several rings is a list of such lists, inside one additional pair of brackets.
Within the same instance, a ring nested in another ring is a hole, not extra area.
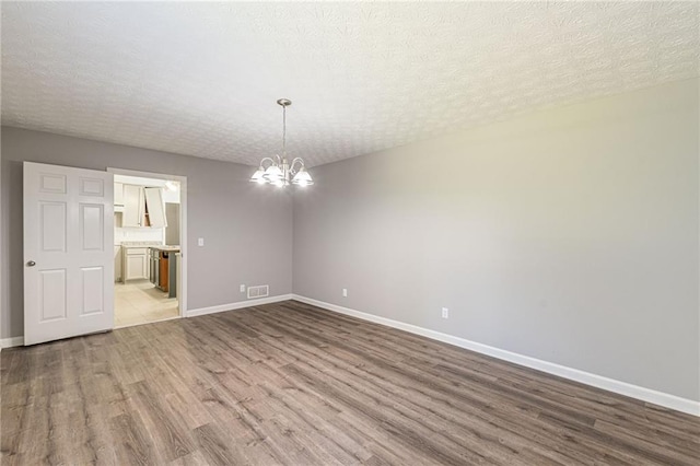
[[(292, 286), (289, 193), (260, 189), (252, 167), (2, 127), (2, 338), (23, 334), (22, 161), (187, 176), (188, 308), (245, 300), (238, 284)], [(205, 246), (197, 238), (205, 237)]]

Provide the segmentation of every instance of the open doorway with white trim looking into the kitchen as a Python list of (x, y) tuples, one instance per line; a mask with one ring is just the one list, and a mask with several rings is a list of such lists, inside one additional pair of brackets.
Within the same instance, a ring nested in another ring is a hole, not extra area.
[(186, 177), (107, 171), (115, 183), (115, 328), (184, 316)]

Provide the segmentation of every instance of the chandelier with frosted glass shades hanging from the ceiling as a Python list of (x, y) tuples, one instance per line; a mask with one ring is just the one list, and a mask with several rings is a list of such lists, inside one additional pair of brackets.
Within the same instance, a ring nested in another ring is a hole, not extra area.
[(304, 161), (301, 158), (293, 159), (292, 163), (287, 161), (287, 107), (292, 105), (292, 101), (280, 98), (277, 104), (282, 106), (282, 155), (275, 154), (271, 158), (266, 156), (262, 159), (259, 168), (250, 177), (250, 182), (260, 185), (270, 184), (278, 187), (289, 186), (290, 184), (298, 186), (313, 185), (314, 180), (306, 172)]

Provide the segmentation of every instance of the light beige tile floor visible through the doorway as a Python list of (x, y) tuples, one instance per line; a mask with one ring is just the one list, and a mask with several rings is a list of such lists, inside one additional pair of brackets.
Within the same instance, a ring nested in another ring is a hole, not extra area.
[(177, 317), (177, 300), (167, 298), (149, 280), (114, 284), (115, 327)]

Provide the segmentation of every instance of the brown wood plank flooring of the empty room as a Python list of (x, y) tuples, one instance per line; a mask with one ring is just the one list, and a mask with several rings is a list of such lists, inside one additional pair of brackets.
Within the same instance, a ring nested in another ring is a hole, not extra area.
[(3, 465), (698, 465), (700, 419), (288, 301), (0, 353)]

